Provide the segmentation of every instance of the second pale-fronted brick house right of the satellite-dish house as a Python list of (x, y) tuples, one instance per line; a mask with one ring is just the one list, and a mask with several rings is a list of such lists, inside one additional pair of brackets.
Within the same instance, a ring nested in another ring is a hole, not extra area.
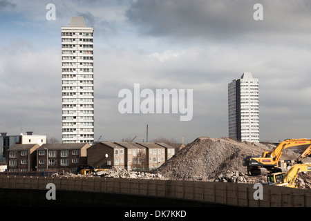
[(165, 148), (156, 143), (151, 142), (138, 142), (141, 146), (147, 148), (148, 169), (157, 169), (165, 162)]

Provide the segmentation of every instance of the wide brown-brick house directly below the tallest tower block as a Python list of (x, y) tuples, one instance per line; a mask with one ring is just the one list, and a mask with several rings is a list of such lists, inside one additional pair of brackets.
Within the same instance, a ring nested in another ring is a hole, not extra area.
[[(77, 170), (87, 162), (87, 143), (42, 144), (37, 148), (37, 171)], [(47, 154), (48, 151), (48, 154)]]

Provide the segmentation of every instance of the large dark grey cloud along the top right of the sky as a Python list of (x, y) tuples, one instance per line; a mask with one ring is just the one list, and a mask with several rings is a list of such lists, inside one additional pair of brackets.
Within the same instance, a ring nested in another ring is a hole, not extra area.
[[(263, 21), (253, 19), (256, 3), (263, 5)], [(240, 37), (259, 39), (256, 35), (273, 37), (271, 33), (276, 32), (308, 33), (310, 10), (308, 1), (138, 0), (126, 15), (142, 35), (229, 41)]]

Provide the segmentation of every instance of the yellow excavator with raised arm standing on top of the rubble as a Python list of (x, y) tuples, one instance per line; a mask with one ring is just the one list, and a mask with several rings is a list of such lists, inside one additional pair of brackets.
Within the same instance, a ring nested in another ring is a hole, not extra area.
[(243, 159), (243, 166), (247, 166), (248, 175), (267, 175), (268, 173), (286, 172), (286, 167), (294, 164), (291, 160), (279, 161), (286, 148), (294, 146), (308, 146), (296, 162), (301, 162), (311, 153), (311, 139), (288, 139), (279, 143), (272, 151), (265, 151), (262, 155), (250, 155)]

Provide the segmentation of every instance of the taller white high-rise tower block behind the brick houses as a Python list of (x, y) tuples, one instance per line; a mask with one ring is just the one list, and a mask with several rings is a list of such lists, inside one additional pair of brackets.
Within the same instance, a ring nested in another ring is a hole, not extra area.
[(62, 27), (62, 142), (94, 142), (93, 28), (83, 17)]

